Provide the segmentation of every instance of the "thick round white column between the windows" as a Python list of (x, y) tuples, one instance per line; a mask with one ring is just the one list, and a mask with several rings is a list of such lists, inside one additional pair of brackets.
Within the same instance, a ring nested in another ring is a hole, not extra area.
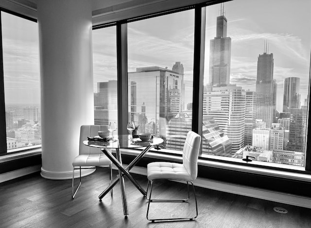
[[(41, 176), (72, 177), (82, 124), (94, 123), (89, 0), (37, 1), (42, 121)], [(87, 169), (83, 175), (93, 172)]]

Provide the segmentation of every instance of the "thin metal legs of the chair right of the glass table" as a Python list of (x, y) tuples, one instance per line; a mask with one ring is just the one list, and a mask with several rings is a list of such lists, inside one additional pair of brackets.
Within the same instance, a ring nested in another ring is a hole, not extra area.
[[(147, 219), (151, 222), (155, 222), (155, 221), (165, 221), (165, 220), (193, 220), (198, 216), (198, 204), (197, 204), (197, 198), (195, 195), (195, 190), (194, 190), (194, 185), (193, 182), (190, 182), (192, 185), (192, 190), (193, 190), (193, 194), (194, 194), (194, 198), (195, 198), (195, 209), (196, 209), (196, 215), (194, 217), (183, 217), (183, 218), (157, 218), (157, 219), (150, 219), (148, 217), (149, 215), (149, 208), (150, 208), (150, 203), (151, 202), (187, 202), (190, 198), (190, 192), (189, 192), (189, 182), (187, 181), (187, 188), (188, 188), (188, 199), (152, 199), (151, 198), (151, 194), (152, 194), (152, 188), (153, 188), (153, 183), (155, 180), (149, 181), (147, 183), (147, 193), (148, 193), (148, 187), (149, 187), (149, 182), (151, 182), (151, 188), (150, 188), (150, 195), (149, 195), (149, 200), (148, 200), (148, 207), (147, 207)], [(148, 194), (147, 194), (148, 195)], [(146, 197), (147, 198), (147, 197)]]

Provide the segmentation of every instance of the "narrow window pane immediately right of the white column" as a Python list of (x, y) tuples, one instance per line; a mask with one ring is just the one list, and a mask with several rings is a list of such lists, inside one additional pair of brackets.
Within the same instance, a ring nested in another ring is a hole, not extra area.
[(93, 30), (93, 74), (94, 123), (117, 125), (116, 26)]

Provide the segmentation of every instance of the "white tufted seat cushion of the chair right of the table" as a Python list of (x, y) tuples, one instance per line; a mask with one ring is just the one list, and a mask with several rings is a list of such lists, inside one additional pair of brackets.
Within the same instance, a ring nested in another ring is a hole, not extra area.
[(183, 164), (171, 162), (152, 162), (147, 165), (147, 177), (155, 179), (172, 179), (193, 181)]

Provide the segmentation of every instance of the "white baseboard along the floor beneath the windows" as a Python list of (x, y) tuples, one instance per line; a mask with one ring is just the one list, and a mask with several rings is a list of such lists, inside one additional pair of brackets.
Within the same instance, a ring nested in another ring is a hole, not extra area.
[[(126, 167), (126, 165), (124, 165)], [(114, 169), (117, 169), (113, 166)], [(25, 176), (34, 172), (40, 171), (41, 166), (26, 167), (12, 172), (0, 174), (0, 183), (9, 181), (21, 176)], [(136, 173), (140, 175), (147, 175), (147, 168), (144, 167), (133, 167), (130, 171), (131, 173)], [(194, 185), (204, 188), (209, 188), (217, 191), (228, 192), (232, 194), (260, 198), (265, 200), (270, 200), (279, 203), (290, 204), (299, 207), (311, 208), (311, 198), (296, 196), (292, 194), (286, 194), (281, 192), (275, 192), (260, 188), (253, 188), (244, 185), (232, 184), (227, 182), (218, 182), (214, 180), (197, 178)]]

